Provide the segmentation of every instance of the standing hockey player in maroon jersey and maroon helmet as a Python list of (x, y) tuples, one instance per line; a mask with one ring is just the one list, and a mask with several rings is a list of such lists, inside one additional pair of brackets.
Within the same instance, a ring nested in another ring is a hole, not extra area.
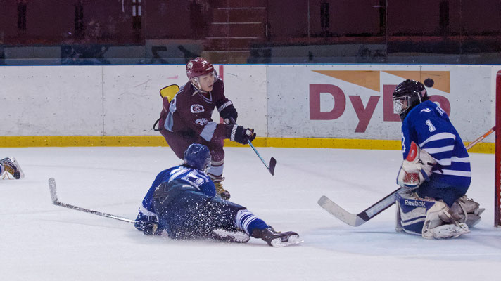
[[(168, 107), (164, 106), (159, 119), (159, 131), (179, 159), (191, 143), (201, 143), (210, 150), (211, 164), (208, 175), (215, 183), (217, 194), (223, 199), (230, 195), (221, 182), (224, 167), (223, 140), (237, 143), (253, 141), (253, 129), (235, 124), (238, 114), (231, 100), (224, 96), (224, 84), (211, 63), (195, 58), (186, 64), (188, 83), (182, 86)], [(214, 109), (225, 124), (212, 119)]]

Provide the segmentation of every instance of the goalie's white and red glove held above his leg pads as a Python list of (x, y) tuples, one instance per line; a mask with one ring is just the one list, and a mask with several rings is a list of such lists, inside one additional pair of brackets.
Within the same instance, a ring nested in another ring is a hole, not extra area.
[(425, 180), (430, 180), (431, 169), (435, 164), (435, 159), (428, 152), (412, 142), (409, 154), (398, 171), (397, 184), (410, 190), (418, 188)]

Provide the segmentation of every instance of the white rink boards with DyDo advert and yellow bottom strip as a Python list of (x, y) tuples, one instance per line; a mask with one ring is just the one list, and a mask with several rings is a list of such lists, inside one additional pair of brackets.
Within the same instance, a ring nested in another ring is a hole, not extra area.
[[(463, 141), (474, 141), (494, 123), (498, 68), (216, 65), (239, 124), (258, 132), (257, 145), (378, 149), (398, 149), (391, 92), (403, 79), (433, 79), (429, 96), (450, 113)], [(158, 91), (187, 80), (184, 65), (8, 66), (0, 74), (4, 147), (165, 145), (153, 131)], [(489, 152), (493, 136), (485, 142), (479, 149)]]

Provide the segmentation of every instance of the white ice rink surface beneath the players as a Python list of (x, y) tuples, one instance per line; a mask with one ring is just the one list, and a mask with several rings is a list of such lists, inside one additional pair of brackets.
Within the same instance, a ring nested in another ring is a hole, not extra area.
[(485, 207), (471, 233), (424, 240), (395, 233), (395, 207), (357, 228), (317, 205), (326, 195), (358, 213), (397, 188), (395, 150), (226, 148), (224, 187), (277, 230), (304, 243), (269, 247), (147, 237), (132, 224), (51, 204), (134, 219), (156, 174), (180, 163), (170, 148), (0, 148), (25, 178), (0, 180), (1, 280), (500, 280), (501, 229), (493, 227), (494, 155), (471, 154), (468, 192)]

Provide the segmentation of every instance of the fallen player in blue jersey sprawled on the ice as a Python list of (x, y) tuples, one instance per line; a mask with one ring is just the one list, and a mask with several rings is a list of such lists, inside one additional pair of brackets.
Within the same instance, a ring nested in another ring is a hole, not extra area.
[(248, 242), (265, 240), (273, 247), (302, 242), (297, 233), (280, 233), (246, 207), (216, 197), (207, 176), (210, 151), (193, 143), (184, 151), (183, 164), (161, 171), (139, 207), (134, 226), (146, 235), (162, 234), (173, 239), (212, 239)]

